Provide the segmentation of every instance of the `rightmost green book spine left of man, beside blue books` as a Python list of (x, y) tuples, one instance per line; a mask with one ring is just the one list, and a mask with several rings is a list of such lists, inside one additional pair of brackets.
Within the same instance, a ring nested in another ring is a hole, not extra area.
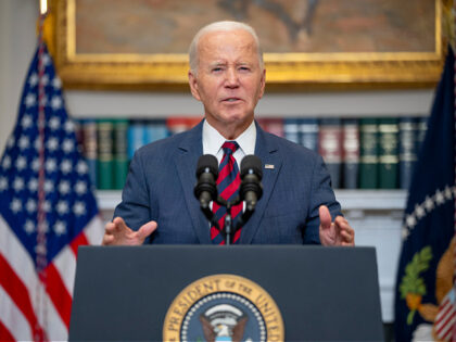
[(114, 121), (114, 189), (123, 189), (128, 174), (128, 119)]

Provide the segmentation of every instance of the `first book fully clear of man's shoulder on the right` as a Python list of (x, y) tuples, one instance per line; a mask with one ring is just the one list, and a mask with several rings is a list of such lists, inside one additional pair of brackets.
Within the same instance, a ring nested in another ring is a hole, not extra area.
[(356, 118), (342, 121), (342, 188), (356, 189), (359, 172), (359, 126)]

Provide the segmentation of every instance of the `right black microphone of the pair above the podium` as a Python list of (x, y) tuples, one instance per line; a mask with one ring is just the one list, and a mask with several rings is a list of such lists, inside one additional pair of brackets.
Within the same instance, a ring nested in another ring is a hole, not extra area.
[(256, 155), (245, 155), (241, 162), (241, 187), (239, 193), (245, 201), (245, 211), (253, 212), (256, 202), (263, 195), (262, 186), (262, 161)]

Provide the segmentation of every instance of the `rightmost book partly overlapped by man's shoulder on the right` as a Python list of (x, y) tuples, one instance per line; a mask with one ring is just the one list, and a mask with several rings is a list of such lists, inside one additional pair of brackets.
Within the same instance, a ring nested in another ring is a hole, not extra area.
[(341, 187), (342, 127), (340, 118), (321, 118), (318, 135), (318, 151), (322, 156), (332, 188)]

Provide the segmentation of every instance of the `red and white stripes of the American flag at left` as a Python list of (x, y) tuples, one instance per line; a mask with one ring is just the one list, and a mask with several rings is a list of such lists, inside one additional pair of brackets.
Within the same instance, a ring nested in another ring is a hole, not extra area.
[[(100, 244), (101, 218), (96, 216), (73, 243), (63, 249), (49, 264), (47, 293), (42, 300), (48, 308), (48, 327), (38, 321), (34, 296), (43, 290), (43, 284), (35, 273), (30, 255), (11, 233), (0, 215), (0, 341), (31, 341), (37, 326), (47, 332), (51, 341), (67, 340), (73, 284), (76, 269), (76, 251), (79, 245)], [(14, 331), (14, 332), (13, 332)], [(43, 335), (42, 331), (38, 331)]]

